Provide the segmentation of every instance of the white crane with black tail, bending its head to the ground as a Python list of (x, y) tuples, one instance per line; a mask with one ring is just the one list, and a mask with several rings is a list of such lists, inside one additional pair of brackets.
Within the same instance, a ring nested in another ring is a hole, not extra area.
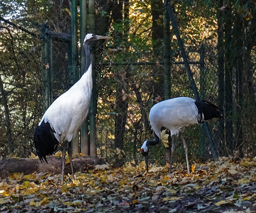
[(150, 110), (150, 123), (154, 130), (155, 138), (153, 140), (145, 140), (141, 147), (141, 154), (145, 158), (147, 172), (149, 146), (157, 145), (159, 143), (160, 130), (164, 127), (170, 131), (170, 135), (173, 139), (169, 173), (172, 167), (172, 158), (175, 149), (174, 136), (180, 135), (186, 154), (187, 173), (190, 174), (187, 145), (181, 132), (183, 132), (187, 126), (203, 123), (204, 121), (211, 120), (215, 117), (222, 119), (223, 115), (217, 106), (207, 101), (196, 101), (188, 97), (179, 97), (155, 104)]

